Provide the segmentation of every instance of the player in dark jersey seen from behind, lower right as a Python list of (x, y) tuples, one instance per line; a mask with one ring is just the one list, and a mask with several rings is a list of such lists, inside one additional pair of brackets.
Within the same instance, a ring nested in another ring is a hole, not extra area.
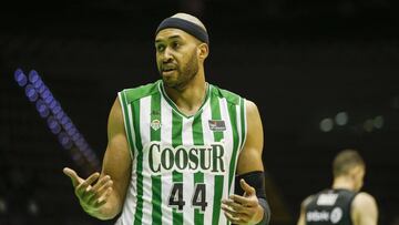
[(377, 225), (375, 198), (359, 192), (366, 165), (355, 150), (344, 150), (332, 163), (332, 187), (307, 197), (298, 225)]

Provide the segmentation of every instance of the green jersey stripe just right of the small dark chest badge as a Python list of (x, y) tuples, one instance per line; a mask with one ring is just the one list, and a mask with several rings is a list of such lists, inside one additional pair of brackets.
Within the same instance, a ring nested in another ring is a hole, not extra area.
[(232, 182), (235, 174), (236, 156), (238, 152), (238, 132), (237, 132), (237, 112), (236, 104), (228, 104), (228, 115), (231, 119), (232, 131), (233, 131), (233, 153), (229, 163), (228, 172), (228, 195), (231, 194)]

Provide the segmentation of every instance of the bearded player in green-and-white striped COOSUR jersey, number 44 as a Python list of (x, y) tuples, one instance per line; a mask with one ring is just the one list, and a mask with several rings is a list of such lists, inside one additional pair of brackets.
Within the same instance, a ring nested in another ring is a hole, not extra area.
[(257, 106), (205, 81), (197, 18), (162, 21), (155, 49), (162, 79), (119, 92), (101, 174), (64, 168), (81, 206), (124, 225), (268, 224)]

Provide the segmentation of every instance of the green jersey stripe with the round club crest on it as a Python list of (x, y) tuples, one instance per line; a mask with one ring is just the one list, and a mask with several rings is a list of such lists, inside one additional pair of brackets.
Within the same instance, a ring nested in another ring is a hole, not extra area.
[[(151, 122), (154, 120), (158, 120), (162, 124), (161, 120), (161, 93), (153, 94), (151, 96)], [(152, 129), (151, 130), (151, 141), (160, 142), (161, 141), (161, 129)], [(161, 175), (151, 176), (152, 181), (152, 224), (162, 224), (162, 183)]]

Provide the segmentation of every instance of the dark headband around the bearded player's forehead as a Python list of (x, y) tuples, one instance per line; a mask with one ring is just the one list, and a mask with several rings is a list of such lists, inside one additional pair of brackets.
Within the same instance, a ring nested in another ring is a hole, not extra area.
[(180, 19), (180, 18), (166, 18), (164, 19), (161, 24), (158, 25), (158, 28), (156, 29), (155, 35), (163, 29), (166, 28), (177, 28), (180, 30), (183, 30), (192, 35), (194, 35), (196, 39), (198, 39), (202, 42), (205, 42), (207, 44), (209, 44), (209, 39), (207, 35), (207, 32), (201, 28), (200, 25)]

